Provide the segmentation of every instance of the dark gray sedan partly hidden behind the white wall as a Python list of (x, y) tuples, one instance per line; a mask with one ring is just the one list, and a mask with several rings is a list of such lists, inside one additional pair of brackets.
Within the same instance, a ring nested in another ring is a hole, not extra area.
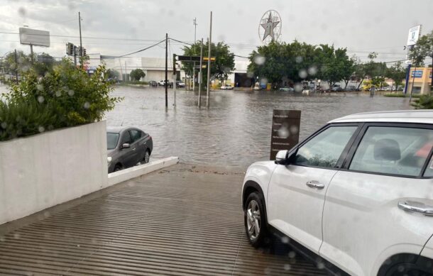
[(138, 128), (115, 127), (106, 129), (108, 172), (147, 163), (153, 150), (152, 137)]

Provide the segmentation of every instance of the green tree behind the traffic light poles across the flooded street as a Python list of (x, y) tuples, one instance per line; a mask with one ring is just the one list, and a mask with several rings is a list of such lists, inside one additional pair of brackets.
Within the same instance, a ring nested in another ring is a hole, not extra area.
[[(200, 54), (201, 43), (194, 43), (191, 46), (183, 48), (183, 55), (192, 56)], [(209, 41), (203, 45), (203, 57), (207, 57), (209, 53)], [(215, 61), (211, 62), (211, 79), (220, 79), (224, 81), (229, 77), (229, 74), (234, 71), (234, 53), (231, 53), (229, 45), (223, 42), (217, 44), (211, 43), (211, 55), (215, 57)], [(198, 62), (196, 62), (196, 66)], [(207, 62), (203, 62), (207, 65)], [(192, 76), (192, 66), (194, 62), (182, 62), (182, 69), (187, 74)], [(203, 83), (207, 84), (207, 74), (203, 70)], [(196, 70), (197, 74), (197, 70)]]

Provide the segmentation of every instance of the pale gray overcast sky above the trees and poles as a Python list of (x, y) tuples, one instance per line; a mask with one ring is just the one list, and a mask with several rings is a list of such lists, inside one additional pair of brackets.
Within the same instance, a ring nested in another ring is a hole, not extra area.
[[(422, 33), (433, 29), (433, 0), (117, 0), (117, 1), (6, 1), (0, 0), (0, 56), (19, 44), (18, 28), (27, 25), (50, 31), (50, 48), (37, 53), (65, 55), (65, 43), (80, 44), (78, 11), (82, 14), (82, 43), (87, 53), (122, 55), (163, 40), (165, 33), (177, 40), (209, 36), (224, 40), (236, 55), (248, 55), (261, 45), (258, 24), (265, 11), (280, 13), (280, 40), (334, 44), (363, 59), (376, 51), (382, 61), (405, 58), (403, 46), (410, 27), (422, 24)], [(68, 35), (70, 38), (55, 35)], [(106, 38), (106, 39), (102, 39)], [(127, 40), (129, 39), (129, 40)], [(180, 43), (170, 43), (170, 53), (180, 54)], [(161, 44), (133, 56), (164, 57)]]

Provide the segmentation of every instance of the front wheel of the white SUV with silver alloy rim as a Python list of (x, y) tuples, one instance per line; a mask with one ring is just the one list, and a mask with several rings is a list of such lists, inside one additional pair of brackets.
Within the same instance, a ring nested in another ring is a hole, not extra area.
[(245, 233), (248, 241), (255, 248), (264, 245), (268, 240), (264, 202), (262, 194), (253, 192), (248, 195), (243, 212)]

